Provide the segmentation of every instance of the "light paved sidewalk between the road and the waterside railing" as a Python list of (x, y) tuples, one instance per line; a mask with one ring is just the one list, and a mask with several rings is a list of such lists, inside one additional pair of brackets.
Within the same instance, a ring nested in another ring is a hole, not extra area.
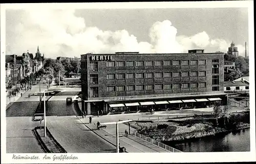
[[(93, 130), (97, 135), (101, 136), (104, 140), (112, 143), (116, 146), (116, 125), (108, 125), (106, 128), (97, 130), (95, 124), (88, 124), (88, 120), (80, 119), (80, 121), (86, 125), (89, 129)], [(139, 152), (168, 152), (155, 145), (151, 145), (145, 141), (139, 140), (132, 135), (128, 137), (124, 136), (124, 130), (129, 130), (129, 127), (125, 124), (119, 124), (119, 143), (121, 147), (125, 147), (127, 152), (139, 153)], [(135, 130), (131, 128), (131, 132)]]

